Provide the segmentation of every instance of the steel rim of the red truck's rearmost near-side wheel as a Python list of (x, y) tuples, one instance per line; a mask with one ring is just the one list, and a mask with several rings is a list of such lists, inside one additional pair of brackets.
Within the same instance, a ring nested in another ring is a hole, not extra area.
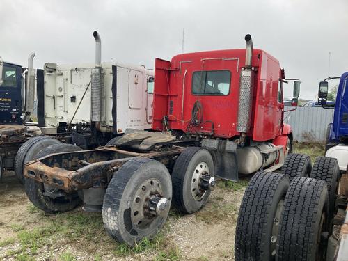
[[(155, 178), (145, 180), (136, 190), (130, 208), (131, 221), (136, 228), (146, 229), (151, 225), (152, 221), (157, 218), (157, 216), (152, 216), (146, 211), (148, 200), (154, 195), (163, 196), (161, 182)], [(170, 198), (168, 200), (170, 200)]]

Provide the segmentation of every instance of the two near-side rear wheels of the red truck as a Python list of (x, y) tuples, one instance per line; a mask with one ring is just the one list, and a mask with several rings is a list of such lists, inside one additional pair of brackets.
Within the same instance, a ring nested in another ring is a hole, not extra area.
[(202, 148), (186, 148), (172, 175), (159, 161), (131, 159), (114, 173), (106, 189), (102, 216), (106, 231), (131, 246), (151, 238), (164, 225), (171, 203), (181, 212), (202, 208), (214, 187), (214, 164)]

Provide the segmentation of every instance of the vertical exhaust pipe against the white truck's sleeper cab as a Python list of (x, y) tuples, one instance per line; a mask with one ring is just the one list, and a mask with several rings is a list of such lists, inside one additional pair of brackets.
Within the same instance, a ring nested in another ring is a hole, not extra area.
[(95, 68), (92, 69), (90, 86), (90, 121), (100, 126), (102, 121), (102, 40), (97, 31), (93, 32), (95, 39)]

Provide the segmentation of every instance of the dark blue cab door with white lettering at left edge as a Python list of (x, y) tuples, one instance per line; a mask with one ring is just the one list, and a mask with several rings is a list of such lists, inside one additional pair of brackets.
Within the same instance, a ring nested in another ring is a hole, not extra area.
[(0, 122), (22, 124), (22, 68), (3, 63), (0, 86)]

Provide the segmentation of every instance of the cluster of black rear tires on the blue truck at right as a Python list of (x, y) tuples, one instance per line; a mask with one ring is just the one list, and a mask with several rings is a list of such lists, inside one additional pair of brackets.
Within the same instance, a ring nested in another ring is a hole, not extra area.
[(288, 157), (293, 164), (282, 173), (259, 172), (248, 184), (237, 221), (236, 260), (324, 260), (337, 161), (319, 157), (308, 173), (306, 155)]

